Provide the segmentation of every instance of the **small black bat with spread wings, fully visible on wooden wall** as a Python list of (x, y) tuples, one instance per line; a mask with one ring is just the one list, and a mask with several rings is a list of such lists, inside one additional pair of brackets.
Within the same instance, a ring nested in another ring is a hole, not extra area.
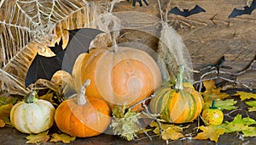
[(201, 12), (206, 12), (205, 9), (201, 8), (200, 6), (198, 5), (195, 5), (195, 8), (192, 8), (191, 10), (189, 9), (183, 9), (183, 11), (181, 11), (179, 8), (175, 7), (175, 8), (172, 8), (170, 11), (169, 11), (169, 14), (176, 14), (176, 15), (182, 15), (183, 17), (188, 17), (189, 15), (192, 15), (192, 14), (198, 14), (198, 13), (201, 13)]

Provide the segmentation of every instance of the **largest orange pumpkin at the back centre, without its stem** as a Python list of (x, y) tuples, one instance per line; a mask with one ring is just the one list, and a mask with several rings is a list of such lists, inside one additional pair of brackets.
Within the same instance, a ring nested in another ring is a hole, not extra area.
[(154, 59), (131, 47), (91, 49), (84, 56), (80, 73), (80, 83), (91, 80), (86, 95), (103, 98), (111, 109), (116, 104), (131, 106), (147, 98), (162, 81)]

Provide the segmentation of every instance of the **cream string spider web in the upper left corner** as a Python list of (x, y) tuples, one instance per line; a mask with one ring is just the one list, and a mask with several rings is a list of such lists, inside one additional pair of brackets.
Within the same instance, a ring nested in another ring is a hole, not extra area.
[(48, 53), (67, 31), (93, 27), (94, 8), (86, 1), (2, 0), (0, 2), (1, 90), (24, 95), (26, 71), (36, 53)]

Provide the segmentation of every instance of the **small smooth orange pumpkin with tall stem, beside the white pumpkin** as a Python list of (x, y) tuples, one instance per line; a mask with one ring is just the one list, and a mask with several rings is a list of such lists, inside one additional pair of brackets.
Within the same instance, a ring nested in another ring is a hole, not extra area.
[(108, 104), (98, 98), (84, 98), (86, 80), (79, 90), (77, 98), (63, 101), (55, 111), (55, 123), (58, 128), (75, 137), (93, 137), (108, 128), (111, 111)]

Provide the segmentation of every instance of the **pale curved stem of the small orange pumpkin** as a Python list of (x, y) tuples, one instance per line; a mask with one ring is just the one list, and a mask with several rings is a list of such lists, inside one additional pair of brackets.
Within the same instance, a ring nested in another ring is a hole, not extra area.
[(78, 100), (77, 100), (78, 105), (84, 105), (86, 103), (85, 91), (87, 86), (89, 85), (90, 85), (90, 79), (87, 79), (83, 82), (82, 86), (80, 86)]

